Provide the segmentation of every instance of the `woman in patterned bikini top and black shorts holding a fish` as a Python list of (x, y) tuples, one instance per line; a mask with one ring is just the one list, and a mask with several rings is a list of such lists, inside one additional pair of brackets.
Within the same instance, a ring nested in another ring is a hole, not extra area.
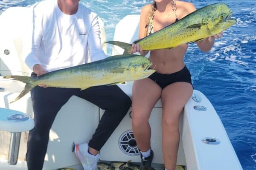
[[(176, 0), (154, 0), (144, 6), (140, 14), (139, 38), (158, 31), (195, 11), (192, 3)], [(222, 37), (222, 32), (198, 41), (198, 47), (208, 52), (214, 40)], [(192, 95), (191, 75), (183, 58), (188, 44), (172, 49), (150, 52), (151, 68), (156, 72), (150, 77), (138, 80), (133, 85), (132, 127), (138, 147), (141, 150), (141, 166), (150, 167), (154, 153), (150, 148), (151, 129), (148, 119), (158, 99), (162, 99), (162, 150), (166, 170), (174, 170), (179, 145), (178, 122), (184, 105)], [(139, 45), (133, 44), (131, 54), (146, 55)]]

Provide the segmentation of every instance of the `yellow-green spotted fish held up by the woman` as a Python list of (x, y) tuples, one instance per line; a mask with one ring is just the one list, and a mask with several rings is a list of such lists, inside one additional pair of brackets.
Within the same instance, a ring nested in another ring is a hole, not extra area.
[[(232, 11), (224, 3), (215, 3), (200, 8), (181, 20), (154, 32), (140, 40), (134, 41), (143, 50), (170, 49), (184, 43), (192, 43), (218, 34), (233, 26)], [(129, 54), (131, 44), (119, 41), (108, 41), (123, 48), (123, 54)]]

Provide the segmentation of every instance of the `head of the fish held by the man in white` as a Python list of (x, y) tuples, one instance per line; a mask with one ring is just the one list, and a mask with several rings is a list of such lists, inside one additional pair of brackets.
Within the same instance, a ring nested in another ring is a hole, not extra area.
[(134, 71), (136, 76), (141, 78), (148, 77), (155, 72), (154, 69), (149, 68), (151, 65), (152, 62), (145, 56), (134, 55), (131, 59), (131, 70)]

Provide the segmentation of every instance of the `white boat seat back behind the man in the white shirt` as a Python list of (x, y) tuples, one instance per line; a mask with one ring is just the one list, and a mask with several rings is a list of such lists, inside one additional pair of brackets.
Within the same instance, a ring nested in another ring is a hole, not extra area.
[[(98, 17), (98, 19), (102, 48), (107, 54), (104, 23), (101, 18)], [(0, 23), (0, 75), (30, 76), (32, 70), (24, 62), (23, 47), (28, 43), (28, 34), (32, 30), (31, 9), (29, 7), (8, 8), (0, 15)], [(90, 57), (88, 58), (90, 62)]]

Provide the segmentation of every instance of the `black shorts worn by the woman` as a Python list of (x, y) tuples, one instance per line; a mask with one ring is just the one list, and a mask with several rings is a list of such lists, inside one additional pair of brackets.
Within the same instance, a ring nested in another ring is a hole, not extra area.
[(186, 66), (184, 66), (180, 71), (172, 74), (160, 74), (154, 72), (148, 78), (156, 82), (162, 89), (174, 82), (188, 82), (192, 85), (191, 74)]

